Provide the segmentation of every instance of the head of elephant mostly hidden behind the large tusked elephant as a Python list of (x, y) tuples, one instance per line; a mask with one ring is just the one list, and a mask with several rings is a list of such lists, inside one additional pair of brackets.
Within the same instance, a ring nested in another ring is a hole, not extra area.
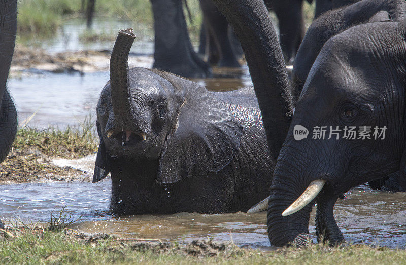
[(330, 37), (354, 25), (403, 19), (406, 19), (406, 2), (403, 0), (362, 0), (317, 18), (306, 32), (293, 64), (291, 82), (294, 100), (297, 101), (313, 62)]

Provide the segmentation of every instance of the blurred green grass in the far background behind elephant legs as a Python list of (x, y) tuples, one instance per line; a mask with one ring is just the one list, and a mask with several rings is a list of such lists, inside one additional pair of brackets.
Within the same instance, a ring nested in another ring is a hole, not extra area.
[[(188, 28), (197, 36), (202, 21), (198, 0), (188, 0), (188, 6), (192, 14), (192, 21), (186, 15)], [(21, 0), (18, 6), (18, 40), (52, 37), (64, 20), (83, 17), (85, 9), (82, 0)], [(147, 24), (151, 28), (154, 21), (148, 0), (96, 0), (95, 15)]]

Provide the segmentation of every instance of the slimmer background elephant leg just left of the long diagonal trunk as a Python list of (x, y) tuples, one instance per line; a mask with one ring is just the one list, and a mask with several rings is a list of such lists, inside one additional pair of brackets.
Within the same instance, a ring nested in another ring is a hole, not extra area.
[(214, 36), (217, 49), (220, 51), (221, 67), (240, 67), (228, 37), (228, 21), (211, 0), (200, 0), (200, 7), (205, 16), (206, 26)]

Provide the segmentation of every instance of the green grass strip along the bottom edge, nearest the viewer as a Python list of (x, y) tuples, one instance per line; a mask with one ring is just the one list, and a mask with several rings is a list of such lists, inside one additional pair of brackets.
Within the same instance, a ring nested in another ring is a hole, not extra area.
[[(305, 249), (283, 248), (260, 252), (226, 247), (209, 255), (194, 246), (173, 243), (170, 247), (140, 247), (136, 241), (109, 238), (81, 240), (64, 232), (47, 229), (10, 230), (15, 237), (0, 241), (0, 263), (222, 263), (222, 264), (404, 264), (405, 250), (353, 245)], [(106, 237), (104, 237), (106, 238)], [(197, 253), (195, 250), (197, 249)], [(202, 254), (203, 253), (203, 254)]]

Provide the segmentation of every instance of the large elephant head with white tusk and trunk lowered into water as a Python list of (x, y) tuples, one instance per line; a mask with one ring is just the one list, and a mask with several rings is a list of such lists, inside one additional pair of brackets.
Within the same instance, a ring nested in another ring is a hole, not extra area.
[[(317, 234), (332, 244), (343, 241), (333, 217), (337, 198), (356, 185), (404, 172), (405, 37), (406, 21), (369, 23), (333, 36), (321, 49), (275, 168), (267, 212), (272, 245), (306, 240), (313, 198)], [(295, 139), (298, 125), (310, 131), (307, 138)], [(352, 127), (355, 138), (349, 137)]]

